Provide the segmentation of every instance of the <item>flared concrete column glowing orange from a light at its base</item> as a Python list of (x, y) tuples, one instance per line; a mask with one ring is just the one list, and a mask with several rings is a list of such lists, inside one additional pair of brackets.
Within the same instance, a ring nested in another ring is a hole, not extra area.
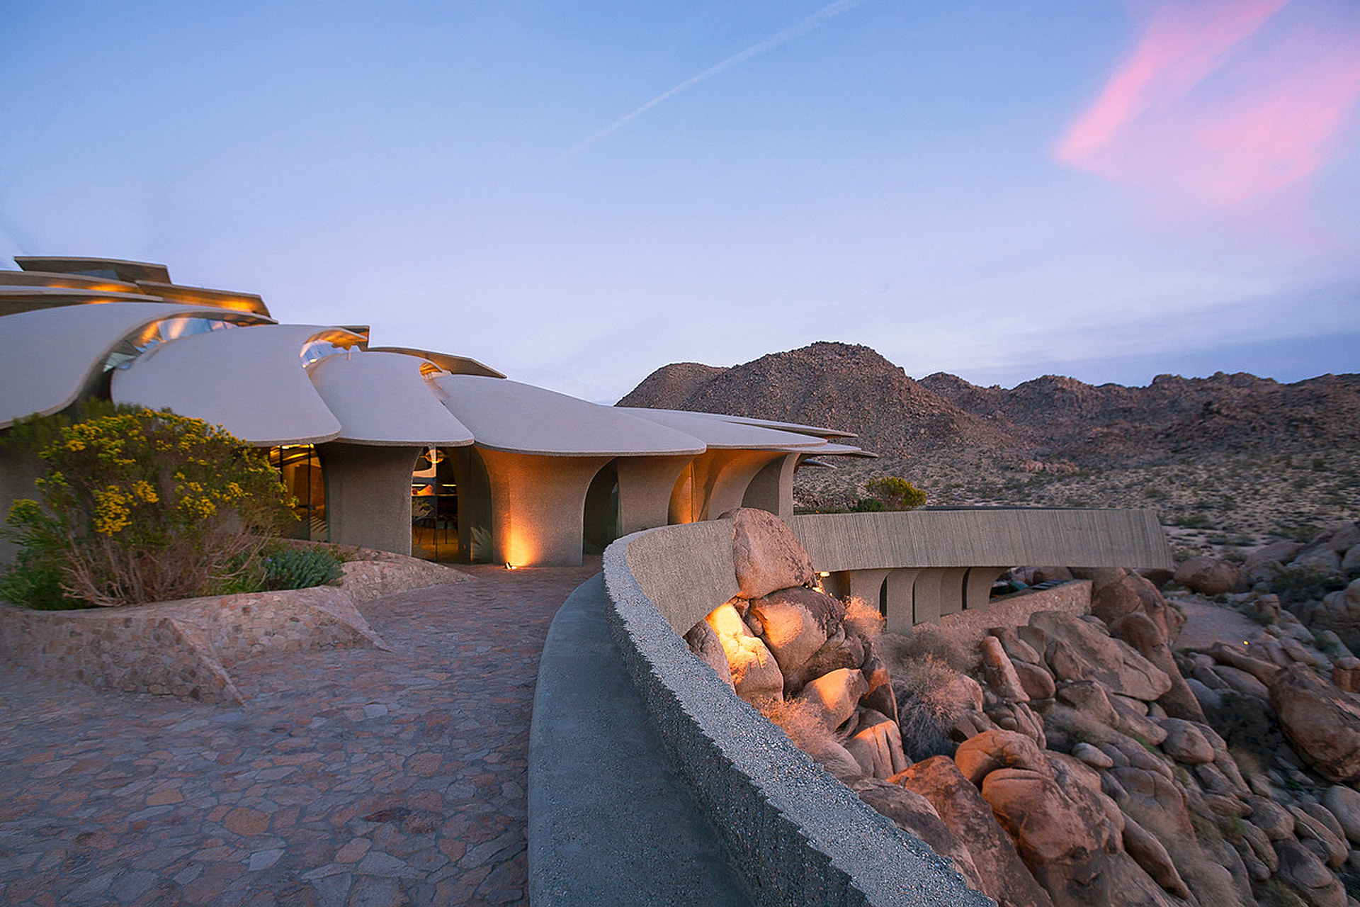
[(492, 563), (579, 564), (586, 490), (611, 457), (479, 450), (491, 487)]

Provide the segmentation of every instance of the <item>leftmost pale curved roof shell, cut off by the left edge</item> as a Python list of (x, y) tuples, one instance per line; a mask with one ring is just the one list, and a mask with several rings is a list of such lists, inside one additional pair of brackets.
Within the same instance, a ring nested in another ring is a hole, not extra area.
[[(124, 339), (175, 317), (220, 318), (220, 309), (163, 302), (58, 306), (0, 317), (0, 428), (73, 404)], [(260, 321), (265, 321), (261, 318)], [(223, 332), (230, 333), (230, 332)]]

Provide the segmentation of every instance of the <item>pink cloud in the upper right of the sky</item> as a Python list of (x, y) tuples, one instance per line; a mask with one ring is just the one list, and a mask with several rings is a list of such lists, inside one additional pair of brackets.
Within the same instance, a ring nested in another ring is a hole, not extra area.
[(1161, 0), (1058, 160), (1210, 205), (1311, 177), (1360, 103), (1360, 15), (1287, 3)]

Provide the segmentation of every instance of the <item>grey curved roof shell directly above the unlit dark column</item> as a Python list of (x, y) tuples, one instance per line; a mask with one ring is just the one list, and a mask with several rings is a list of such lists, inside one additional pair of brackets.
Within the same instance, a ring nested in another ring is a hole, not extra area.
[(340, 437), (360, 445), (472, 443), (472, 432), (439, 404), (420, 360), (396, 352), (326, 356), (307, 369), (311, 385), (340, 420)]

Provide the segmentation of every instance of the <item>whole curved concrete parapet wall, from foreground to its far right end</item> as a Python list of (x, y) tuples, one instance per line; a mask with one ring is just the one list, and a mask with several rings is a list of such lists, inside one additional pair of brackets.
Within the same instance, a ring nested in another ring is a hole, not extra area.
[[(917, 511), (789, 521), (817, 570), (1164, 566), (1148, 511)], [(664, 526), (604, 555), (611, 631), (695, 800), (770, 904), (987, 904), (740, 700), (680, 638), (737, 592), (732, 522)]]

